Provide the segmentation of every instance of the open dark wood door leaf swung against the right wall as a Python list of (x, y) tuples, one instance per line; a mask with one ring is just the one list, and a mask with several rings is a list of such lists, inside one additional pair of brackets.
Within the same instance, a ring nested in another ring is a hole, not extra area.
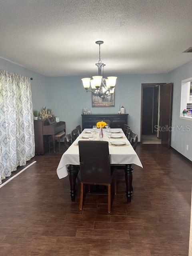
[(173, 83), (164, 84), (161, 94), (161, 140), (162, 145), (170, 148), (171, 117), (172, 117), (172, 87)]

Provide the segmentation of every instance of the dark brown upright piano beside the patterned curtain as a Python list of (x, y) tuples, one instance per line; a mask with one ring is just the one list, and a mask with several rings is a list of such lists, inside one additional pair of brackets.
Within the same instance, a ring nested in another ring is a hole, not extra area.
[(63, 121), (56, 122), (55, 118), (34, 120), (35, 154), (43, 155), (49, 151), (49, 136), (52, 136), (55, 152), (55, 135), (62, 131), (66, 132), (65, 122)]

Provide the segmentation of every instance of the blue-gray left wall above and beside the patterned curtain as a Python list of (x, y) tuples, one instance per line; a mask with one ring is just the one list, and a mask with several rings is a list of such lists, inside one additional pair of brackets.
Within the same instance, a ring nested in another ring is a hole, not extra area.
[(0, 68), (22, 76), (33, 78), (33, 80), (31, 80), (33, 109), (40, 110), (42, 106), (46, 106), (48, 104), (48, 90), (46, 87), (45, 76), (2, 58), (0, 58)]

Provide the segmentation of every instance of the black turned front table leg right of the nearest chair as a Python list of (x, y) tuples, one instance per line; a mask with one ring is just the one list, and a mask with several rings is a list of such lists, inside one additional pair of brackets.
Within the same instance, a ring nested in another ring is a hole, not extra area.
[(131, 197), (133, 194), (133, 187), (132, 187), (132, 173), (134, 170), (134, 167), (132, 167), (131, 164), (126, 164), (125, 166), (125, 182), (126, 182), (126, 197), (127, 202), (131, 202)]

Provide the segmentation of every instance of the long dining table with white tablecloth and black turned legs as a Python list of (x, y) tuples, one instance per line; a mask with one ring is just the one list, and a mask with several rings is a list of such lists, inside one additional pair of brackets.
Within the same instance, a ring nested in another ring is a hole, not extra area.
[[(76, 178), (80, 170), (80, 159), (79, 159), (79, 140), (103, 140), (109, 143), (109, 154), (110, 154), (110, 164), (112, 166), (117, 166), (118, 169), (122, 169), (125, 172), (125, 182), (126, 182), (126, 197), (127, 201), (131, 202), (133, 194), (132, 186), (132, 174), (134, 167), (132, 164), (136, 164), (142, 168), (142, 163), (135, 152), (134, 148), (126, 138), (123, 130), (121, 128), (110, 129), (110, 135), (107, 129), (103, 129), (103, 138), (100, 138), (100, 129), (95, 129), (95, 133), (91, 132), (92, 129), (84, 129), (82, 133), (76, 138), (76, 140), (71, 144), (71, 146), (62, 155), (58, 168), (57, 175), (59, 179), (65, 178), (69, 174), (70, 180), (70, 196), (72, 202), (75, 201), (76, 196)], [(89, 134), (93, 134), (90, 138)], [(118, 135), (118, 136), (117, 136)], [(119, 137), (119, 138), (118, 138)], [(115, 142), (115, 143), (114, 143)], [(124, 143), (116, 143), (124, 142)], [(124, 145), (115, 145), (124, 144)], [(97, 152), (95, 152), (97, 154)]]

